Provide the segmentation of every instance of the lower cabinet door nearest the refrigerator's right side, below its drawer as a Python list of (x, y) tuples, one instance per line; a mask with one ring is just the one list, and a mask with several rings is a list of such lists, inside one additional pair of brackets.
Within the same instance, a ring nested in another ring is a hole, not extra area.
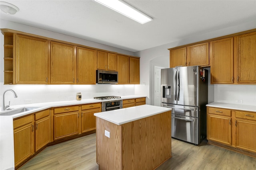
[(231, 117), (208, 114), (207, 139), (231, 145)]

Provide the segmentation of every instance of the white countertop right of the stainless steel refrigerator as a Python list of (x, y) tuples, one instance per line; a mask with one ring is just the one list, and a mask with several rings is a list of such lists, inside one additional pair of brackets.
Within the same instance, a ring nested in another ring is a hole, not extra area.
[(224, 108), (224, 109), (243, 110), (243, 111), (255, 111), (256, 112), (256, 106), (255, 105), (213, 102), (213, 103), (207, 104), (206, 106), (208, 106), (208, 107), (218, 107), (218, 108)]

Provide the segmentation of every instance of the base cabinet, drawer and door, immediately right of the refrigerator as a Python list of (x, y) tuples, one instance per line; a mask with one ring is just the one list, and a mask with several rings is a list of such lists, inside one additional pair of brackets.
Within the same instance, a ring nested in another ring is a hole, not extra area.
[(231, 110), (207, 108), (207, 139), (231, 145)]

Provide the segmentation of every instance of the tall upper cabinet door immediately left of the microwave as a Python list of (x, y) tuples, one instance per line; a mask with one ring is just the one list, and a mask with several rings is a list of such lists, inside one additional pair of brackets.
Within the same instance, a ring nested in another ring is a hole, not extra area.
[(76, 84), (96, 84), (96, 50), (77, 47)]

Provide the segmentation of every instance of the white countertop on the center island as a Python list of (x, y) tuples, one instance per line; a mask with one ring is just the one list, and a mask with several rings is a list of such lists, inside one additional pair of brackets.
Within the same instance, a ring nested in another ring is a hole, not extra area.
[(122, 125), (131, 121), (170, 111), (172, 109), (167, 107), (159, 107), (152, 105), (141, 105), (135, 107), (128, 107), (124, 109), (105, 111), (100, 113), (94, 113), (96, 117), (100, 117), (106, 121), (115, 123), (116, 125)]

